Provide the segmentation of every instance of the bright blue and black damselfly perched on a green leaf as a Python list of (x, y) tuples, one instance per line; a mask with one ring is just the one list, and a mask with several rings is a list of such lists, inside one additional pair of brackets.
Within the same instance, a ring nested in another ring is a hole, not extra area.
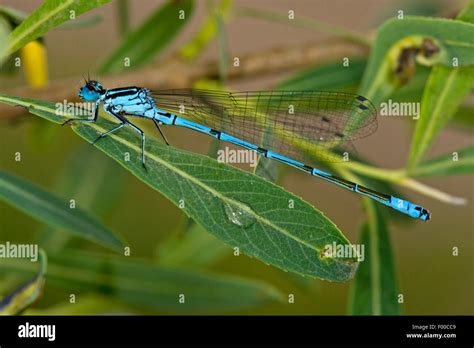
[(429, 212), (419, 205), (306, 164), (311, 158), (309, 155), (323, 161), (337, 160), (341, 145), (375, 131), (377, 111), (362, 96), (340, 92), (230, 93), (192, 89), (151, 92), (140, 87), (104, 89), (93, 80), (86, 81), (79, 96), (95, 103), (93, 117), (69, 119), (65, 123), (95, 122), (102, 104), (119, 123), (94, 143), (128, 125), (141, 136), (144, 167), (145, 135), (131, 123), (130, 116), (152, 120), (167, 144), (160, 125), (185, 127), (256, 151), (413, 218), (430, 219)]

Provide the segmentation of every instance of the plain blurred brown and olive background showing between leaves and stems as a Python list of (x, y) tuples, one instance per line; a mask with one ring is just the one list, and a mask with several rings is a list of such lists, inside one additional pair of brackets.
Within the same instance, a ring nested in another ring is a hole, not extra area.
[[(283, 15), (293, 10), (296, 16), (304, 15), (316, 21), (371, 37), (385, 19), (396, 16), (400, 9), (407, 15), (452, 17), (465, 3), (465, 1), (282, 0), (255, 2), (239, 0), (234, 1), (230, 6), (233, 9), (272, 10)], [(41, 1), (2, 1), (2, 5), (26, 13), (32, 12), (40, 4)], [(163, 4), (163, 1), (130, 1), (130, 30), (140, 26)], [(80, 28), (56, 28), (44, 36), (49, 85), (54, 86), (57, 83), (64, 86), (64, 81), (68, 81), (65, 87), (69, 89), (68, 93), (76, 93), (82, 83), (83, 75), (89, 72), (92, 78), (99, 77), (98, 69), (122, 40), (117, 12), (117, 4), (112, 2), (80, 17), (81, 20), (92, 18), (92, 22), (95, 23)], [(152, 67), (151, 69), (160, 66), (163, 68), (163, 65), (169, 64), (173, 59), (178, 59), (175, 58), (176, 52), (192, 40), (208, 17), (208, 13), (209, 3), (196, 2), (189, 23), (148, 66)], [(225, 45), (230, 59), (254, 55), (271, 57), (272, 52), (281, 51), (286, 52), (286, 57), (291, 55), (293, 48), (301, 49), (306, 45), (319, 46), (319, 49), (324, 52), (324, 45), (328, 45), (328, 50), (333, 49), (331, 40), (335, 40), (334, 35), (330, 33), (244, 14), (232, 15), (231, 19), (226, 19), (224, 28)], [(220, 55), (217, 41), (210, 40), (201, 54), (186, 61), (185, 64), (203, 68), (210, 64), (215, 65)], [(332, 61), (340, 62), (345, 57), (343, 51), (335, 52)], [(358, 57), (367, 55), (364, 49), (354, 48), (352, 51), (359, 52)], [(330, 62), (330, 55), (327, 52), (324, 55), (325, 58), (321, 60), (317, 57), (309, 58), (303, 63), (295, 64), (296, 69), (289, 66), (286, 69), (275, 69), (243, 77), (234, 77), (230, 72), (224, 84), (232, 90), (275, 89), (282, 81), (288, 80), (305, 68)], [(349, 58), (352, 59), (352, 56)], [(143, 83), (143, 74), (138, 81), (134, 82), (135, 73), (132, 70), (115, 76), (110, 75), (110, 80), (116, 82), (116, 85), (106, 85), (106, 88)], [(121, 75), (124, 76), (123, 79)], [(188, 80), (183, 81), (179, 70), (174, 71), (174, 76), (176, 81), (173, 86), (161, 85), (161, 87), (186, 87)], [(208, 79), (203, 78), (203, 80), (205, 80), (203, 83), (209, 83)], [(64, 87), (61, 88), (64, 89)], [(354, 86), (343, 88), (356, 90)], [(337, 86), (332, 89), (337, 89)], [(13, 75), (0, 75), (0, 92), (30, 95), (24, 71)], [(414, 96), (417, 98), (416, 94)], [(45, 96), (45, 99), (62, 102), (63, 98), (62, 94), (53, 94)], [(356, 143), (358, 152), (379, 167), (402, 167), (409, 151), (413, 126), (414, 122), (411, 118), (379, 117), (377, 132)], [(143, 127), (150, 136), (157, 136), (153, 125), (144, 124)], [(210, 144), (208, 139), (201, 136), (183, 137), (180, 134), (182, 134), (180, 129), (167, 129), (167, 137), (173, 146), (207, 153)], [(28, 179), (59, 196), (69, 197), (73, 194), (77, 197), (78, 204), (82, 204), (85, 209), (98, 215), (112, 231), (126, 238), (133, 250), (133, 256), (155, 260), (159, 258), (160, 250), (163, 250), (160, 248), (170, 247), (167, 244), (170, 238), (183, 233), (187, 219), (178, 207), (151, 190), (105, 154), (86, 144), (68, 127), (61, 128), (29, 114), (8, 118), (0, 114), (0, 139), (2, 169)], [(453, 123), (442, 132), (428, 157), (466, 147), (473, 143), (472, 140), (472, 128)], [(387, 144), (397, 144), (397, 146), (387, 146)], [(16, 152), (21, 152), (21, 162), (14, 161)], [(280, 185), (322, 211), (337, 224), (351, 242), (358, 241), (359, 227), (365, 221), (365, 215), (357, 195), (334, 188), (332, 185), (315, 180), (296, 170), (285, 168), (281, 170)], [(432, 213), (432, 221), (429, 223), (419, 221), (390, 223), (390, 238), (394, 248), (400, 291), (405, 300), (402, 306), (403, 313), (408, 315), (473, 314), (474, 215), (472, 200), (474, 184), (472, 177), (451, 176), (426, 179), (423, 182), (451, 195), (464, 197), (468, 203), (464, 206), (452, 206), (412, 191), (401, 190), (407, 198), (429, 208)], [(0, 211), (0, 241), (27, 243), (37, 240), (46, 228), (43, 224), (1, 202)], [(59, 235), (61, 234), (56, 236)], [(206, 241), (209, 241), (210, 245), (220, 243), (213, 240), (214, 237), (211, 235), (206, 236)], [(55, 239), (45, 241), (53, 245), (55, 242), (61, 244), (60, 240)], [(75, 240), (69, 240), (67, 243), (87, 250), (103, 251), (92, 243)], [(207, 252), (206, 243), (201, 243), (202, 253)], [(170, 245), (172, 247), (174, 244)], [(452, 256), (453, 247), (459, 248), (459, 256)], [(216, 273), (263, 280), (285, 294), (295, 294), (295, 303), (288, 305), (274, 302), (243, 311), (229, 311), (229, 314), (340, 315), (347, 313), (350, 283), (337, 284), (302, 278), (269, 267), (256, 259), (246, 256), (234, 257), (232, 253), (233, 250), (225, 246), (222, 251), (219, 251), (219, 256), (205, 268)], [(192, 262), (190, 267), (192, 267)], [(10, 287), (5, 282), (0, 286), (2, 291), (8, 288)], [(46, 283), (43, 297), (35, 308), (47, 308), (61, 302), (64, 293), (67, 292), (49, 287)], [(152, 313), (160, 312), (152, 311)]]

